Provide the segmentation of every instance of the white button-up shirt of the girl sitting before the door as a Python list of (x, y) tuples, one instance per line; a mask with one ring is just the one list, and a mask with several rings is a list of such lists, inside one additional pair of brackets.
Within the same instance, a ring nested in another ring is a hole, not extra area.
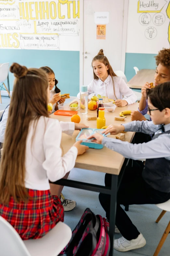
[[(125, 81), (121, 77), (113, 77), (114, 85), (115, 85), (115, 93), (118, 99), (125, 100), (128, 104), (135, 103), (137, 97), (132, 89), (125, 83)], [(106, 80), (103, 82), (101, 79), (93, 79), (92, 82), (88, 85), (87, 91), (88, 94), (95, 93), (95, 95), (100, 94), (101, 96), (108, 97), (109, 99), (116, 100), (114, 90), (113, 90), (113, 81), (112, 77), (108, 75)], [(80, 93), (77, 95), (80, 98)]]

